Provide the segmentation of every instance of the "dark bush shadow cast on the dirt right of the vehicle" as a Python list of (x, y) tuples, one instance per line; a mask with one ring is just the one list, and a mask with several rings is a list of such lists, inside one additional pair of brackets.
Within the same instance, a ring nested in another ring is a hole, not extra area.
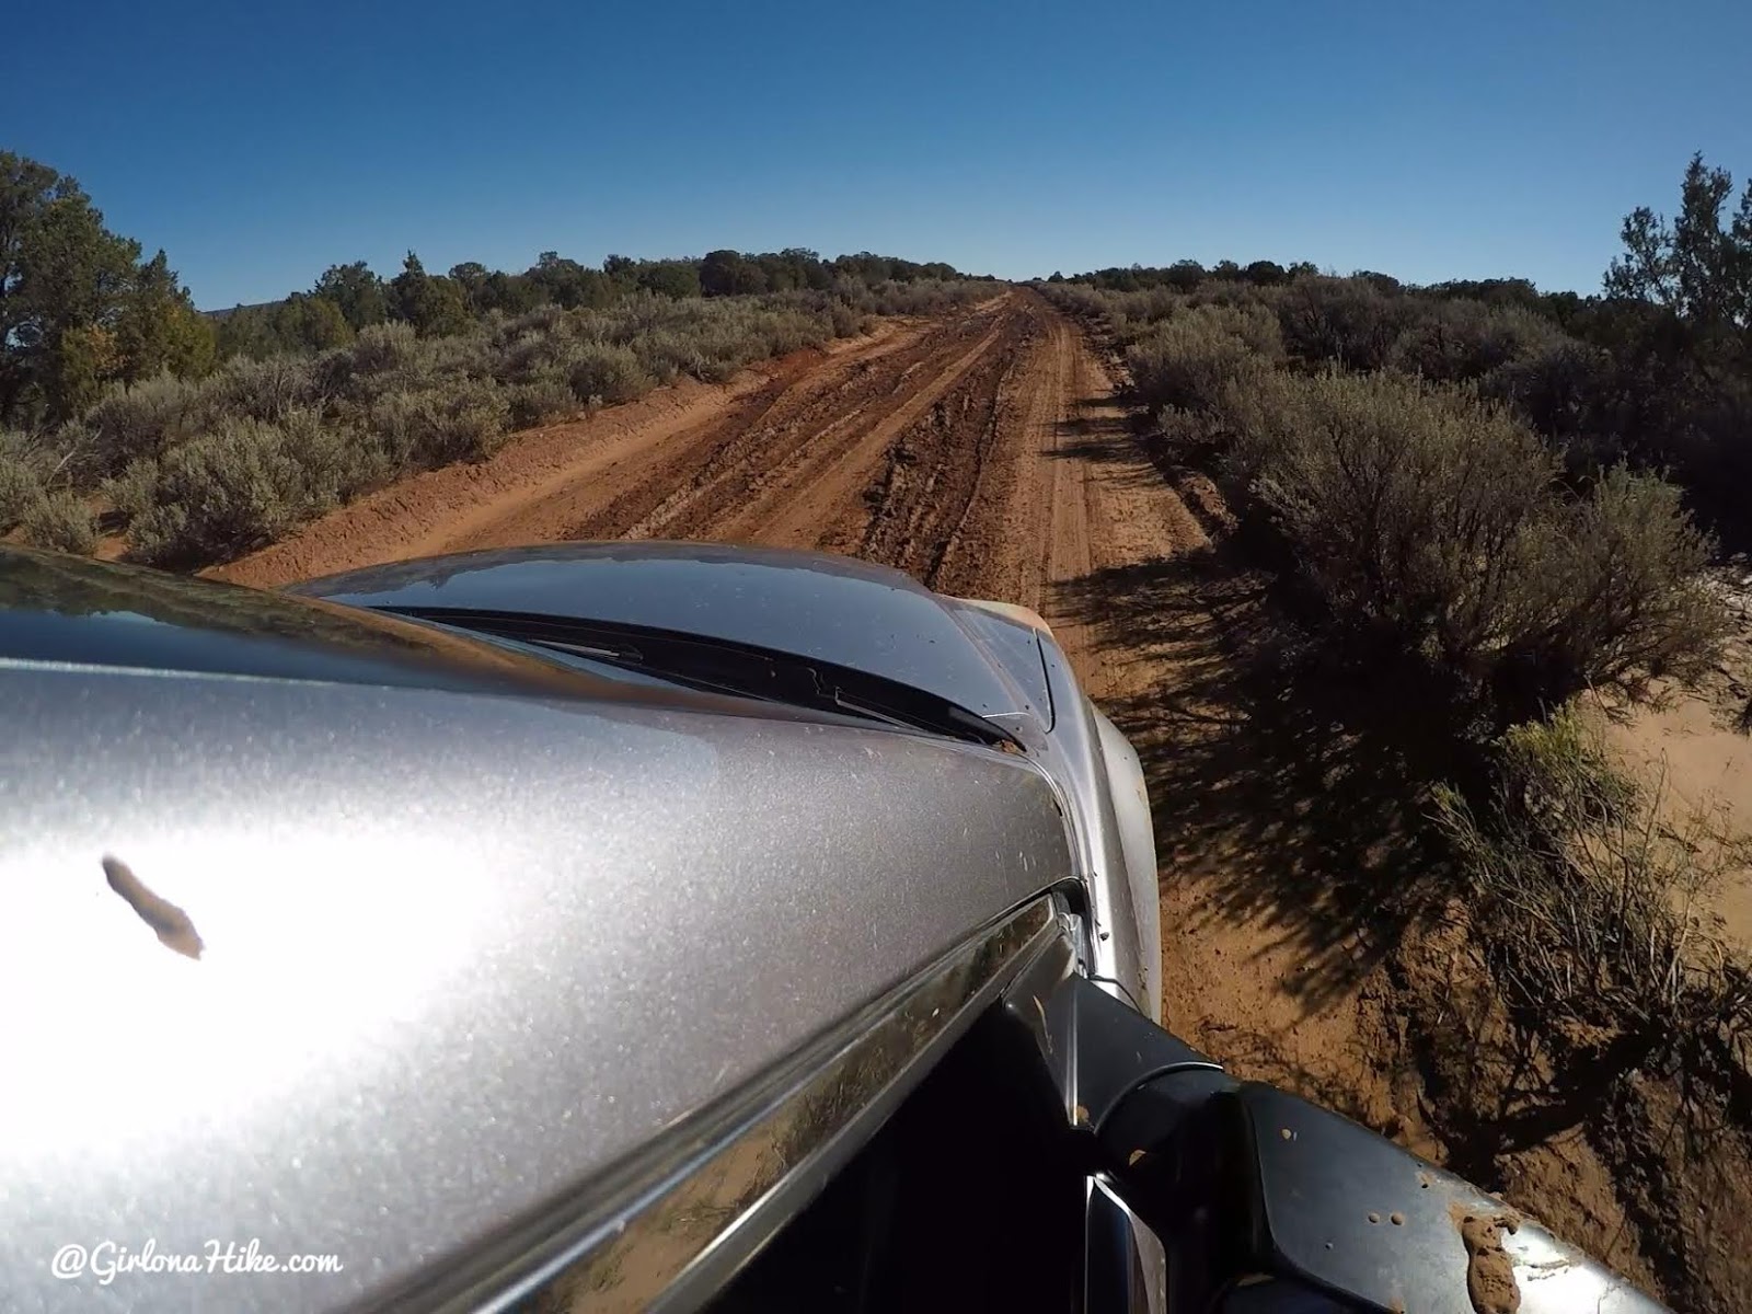
[(1219, 869), (1205, 916), (1291, 946), (1303, 971), (1286, 988), (1319, 1007), (1445, 909), (1416, 781), (1465, 764), (1431, 690), (1335, 664), (1272, 589), (1219, 545), (1099, 569), (1055, 601), (1116, 661), (1165, 673), (1102, 701), (1149, 780), (1162, 880)]

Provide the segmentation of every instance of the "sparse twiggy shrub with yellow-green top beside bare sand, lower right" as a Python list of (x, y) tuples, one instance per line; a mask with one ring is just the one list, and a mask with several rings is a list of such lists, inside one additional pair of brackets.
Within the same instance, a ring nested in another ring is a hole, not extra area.
[[(1573, 708), (1508, 731), (1494, 787), (1437, 792), (1470, 883), (1470, 925), (1512, 1021), (1556, 1065), (1559, 1099), (1605, 1100), (1636, 1070), (1720, 1079), (1752, 1041), (1752, 962), (1701, 899), (1752, 858), (1708, 802), (1670, 806), (1622, 776)], [(1677, 815), (1675, 815), (1677, 813)]]

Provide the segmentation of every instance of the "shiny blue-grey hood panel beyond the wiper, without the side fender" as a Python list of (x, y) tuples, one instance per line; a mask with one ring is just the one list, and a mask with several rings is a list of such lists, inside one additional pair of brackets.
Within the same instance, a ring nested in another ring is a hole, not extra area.
[(562, 543), (370, 566), (287, 592), (350, 606), (526, 611), (706, 634), (878, 675), (999, 722), (1049, 718), (1028, 625), (850, 557), (713, 543)]

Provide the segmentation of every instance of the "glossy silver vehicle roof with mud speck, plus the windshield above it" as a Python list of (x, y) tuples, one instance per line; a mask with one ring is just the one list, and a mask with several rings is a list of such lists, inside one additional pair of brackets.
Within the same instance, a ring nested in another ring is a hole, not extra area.
[[(1074, 878), (1016, 755), (524, 671), (466, 636), (377, 655), (401, 622), (321, 603), (5, 566), (9, 1309), (394, 1293)], [(443, 569), (406, 587), (470, 580)], [(228, 613), (259, 652), (226, 646)], [(67, 1246), (251, 1240), (343, 1268), (51, 1272)]]

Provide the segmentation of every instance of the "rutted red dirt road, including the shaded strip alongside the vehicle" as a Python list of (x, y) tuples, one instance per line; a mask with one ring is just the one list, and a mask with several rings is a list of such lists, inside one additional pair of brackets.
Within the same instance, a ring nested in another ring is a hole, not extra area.
[[(1258, 715), (1221, 696), (1254, 606), (1225, 564), (1233, 517), (1130, 433), (1111, 392), (1084, 333), (1016, 291), (531, 431), (212, 573), (272, 587), (438, 552), (694, 538), (853, 554), (1030, 606), (1151, 773), (1169, 1027), (1447, 1162), (1403, 1034), (1405, 992), (1428, 983), (1367, 929), (1335, 930), (1314, 894), (1332, 857), (1289, 844), (1326, 787), (1225, 767)], [(1656, 1286), (1587, 1144), (1554, 1137), (1507, 1177), (1508, 1198)]]

